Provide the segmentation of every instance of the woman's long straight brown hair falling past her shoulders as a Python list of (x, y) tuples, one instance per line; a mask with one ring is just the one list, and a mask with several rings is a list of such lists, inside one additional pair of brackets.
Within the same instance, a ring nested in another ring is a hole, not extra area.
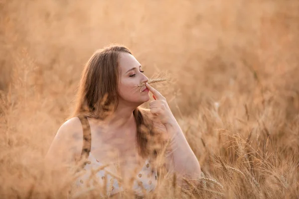
[[(118, 105), (120, 53), (132, 54), (125, 46), (111, 45), (97, 50), (88, 60), (81, 75), (73, 117), (86, 115), (103, 120), (115, 111)], [(133, 111), (137, 124), (136, 141), (141, 156), (155, 156), (157, 150), (152, 149), (153, 153), (149, 150), (154, 128), (145, 112), (146, 109), (141, 107)]]

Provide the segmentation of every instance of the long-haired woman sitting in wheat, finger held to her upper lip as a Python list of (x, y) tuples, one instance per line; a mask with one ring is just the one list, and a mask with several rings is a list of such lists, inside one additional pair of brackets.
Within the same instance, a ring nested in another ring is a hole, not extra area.
[[(106, 47), (89, 59), (74, 114), (61, 125), (47, 154), (56, 163), (78, 162), (86, 154), (77, 189), (106, 184), (107, 194), (113, 195), (125, 190), (126, 182), (133, 182), (135, 194), (143, 195), (156, 187), (159, 154), (166, 154), (164, 167), (176, 173), (178, 183), (183, 183), (182, 177), (200, 176), (197, 158), (166, 99), (148, 81), (141, 64), (124, 46)], [(140, 84), (144, 86), (137, 90)], [(150, 100), (149, 92), (155, 100), (150, 109), (141, 108)], [(160, 147), (165, 142), (171, 143), (167, 153)], [(112, 162), (117, 164), (103, 166)]]

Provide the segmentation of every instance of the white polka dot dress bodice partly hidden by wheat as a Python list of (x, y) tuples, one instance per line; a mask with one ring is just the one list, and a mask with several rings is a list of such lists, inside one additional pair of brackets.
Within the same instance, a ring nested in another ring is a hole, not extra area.
[[(115, 179), (113, 176), (109, 175), (104, 170), (100, 170), (95, 174), (94, 178), (90, 179), (91, 171), (97, 170), (101, 166), (103, 166), (103, 164), (101, 164), (98, 160), (96, 160), (90, 153), (87, 160), (87, 164), (83, 169), (85, 173), (80, 178), (77, 179), (75, 183), (75, 188), (76, 188), (75, 190), (79, 191), (87, 188), (90, 189), (93, 186), (99, 186), (99, 185), (104, 186), (106, 181), (107, 182), (106, 190), (108, 196), (123, 191), (123, 188), (121, 185), (119, 185), (118, 180)], [(143, 196), (143, 193), (145, 191), (146, 193), (149, 193), (150, 191), (155, 189), (156, 182), (157, 182), (156, 168), (152, 168), (150, 166), (149, 160), (146, 160), (143, 168), (136, 176), (136, 180), (133, 183), (133, 190), (137, 195)]]

